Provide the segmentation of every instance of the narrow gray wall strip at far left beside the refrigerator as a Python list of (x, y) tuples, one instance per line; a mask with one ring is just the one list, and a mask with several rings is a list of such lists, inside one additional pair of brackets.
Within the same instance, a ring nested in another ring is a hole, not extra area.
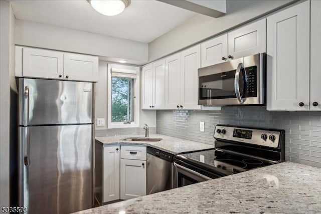
[(10, 99), (15, 84), (15, 16), (9, 2), (0, 0), (0, 206), (10, 200)]

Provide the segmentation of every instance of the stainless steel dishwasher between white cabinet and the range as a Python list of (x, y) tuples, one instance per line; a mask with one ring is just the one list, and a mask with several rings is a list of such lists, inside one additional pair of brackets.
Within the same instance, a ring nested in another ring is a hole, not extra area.
[(147, 147), (147, 194), (172, 189), (173, 154)]

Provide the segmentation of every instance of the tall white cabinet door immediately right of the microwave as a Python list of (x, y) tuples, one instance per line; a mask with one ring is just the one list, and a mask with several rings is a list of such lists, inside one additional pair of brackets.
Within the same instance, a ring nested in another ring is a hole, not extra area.
[(309, 31), (308, 1), (267, 18), (268, 110), (309, 109)]

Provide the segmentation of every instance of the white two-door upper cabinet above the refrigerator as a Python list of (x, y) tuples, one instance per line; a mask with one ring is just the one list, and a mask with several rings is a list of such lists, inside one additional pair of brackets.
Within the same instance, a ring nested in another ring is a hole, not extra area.
[(98, 82), (98, 57), (16, 46), (16, 76)]

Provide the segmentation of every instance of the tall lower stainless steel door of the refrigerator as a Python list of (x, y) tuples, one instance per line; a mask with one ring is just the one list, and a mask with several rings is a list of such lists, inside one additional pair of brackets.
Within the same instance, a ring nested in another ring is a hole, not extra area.
[(92, 124), (20, 127), (20, 206), (28, 213), (92, 207), (92, 133)]

